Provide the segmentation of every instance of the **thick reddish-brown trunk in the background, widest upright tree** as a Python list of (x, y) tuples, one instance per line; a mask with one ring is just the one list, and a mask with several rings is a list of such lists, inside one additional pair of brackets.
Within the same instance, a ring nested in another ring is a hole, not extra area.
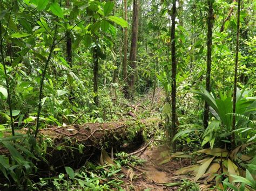
[[(135, 76), (136, 76), (136, 56), (137, 56), (137, 41), (138, 41), (138, 25), (139, 25), (139, 0), (133, 0), (133, 12), (132, 12), (132, 34), (131, 34), (131, 51), (130, 51), (130, 66), (131, 79), (130, 89), (131, 92), (134, 88)], [(132, 95), (132, 94), (131, 94)]]

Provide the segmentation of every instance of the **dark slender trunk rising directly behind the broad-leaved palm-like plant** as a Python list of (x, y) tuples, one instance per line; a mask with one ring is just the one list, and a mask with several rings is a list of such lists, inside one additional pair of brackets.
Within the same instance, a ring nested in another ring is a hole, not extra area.
[[(213, 8), (212, 1), (208, 0), (207, 17), (207, 71), (206, 71), (206, 90), (211, 91), (211, 64), (212, 64), (212, 26), (213, 26)], [(204, 129), (207, 128), (209, 121), (209, 105), (205, 102), (204, 109)]]

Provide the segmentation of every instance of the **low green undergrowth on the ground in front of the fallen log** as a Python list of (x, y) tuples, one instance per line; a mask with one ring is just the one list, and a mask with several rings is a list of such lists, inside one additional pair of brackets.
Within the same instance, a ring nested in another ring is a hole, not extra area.
[[(98, 162), (87, 161), (84, 166), (74, 171), (70, 167), (65, 167), (64, 173), (59, 173), (55, 177), (40, 178), (32, 185), (35, 190), (123, 190), (122, 185), (126, 176), (122, 167), (127, 169), (133, 166), (144, 164), (144, 160), (125, 152), (115, 154), (116, 165), (99, 165)], [(136, 176), (134, 177), (136, 178)]]

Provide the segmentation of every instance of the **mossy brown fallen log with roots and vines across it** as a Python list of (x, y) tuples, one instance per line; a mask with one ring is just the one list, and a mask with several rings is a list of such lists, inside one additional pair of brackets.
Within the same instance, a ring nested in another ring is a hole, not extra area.
[[(39, 130), (38, 140), (51, 140), (45, 161), (37, 161), (36, 166), (45, 171), (58, 171), (64, 166), (83, 166), (93, 154), (104, 148), (119, 150), (123, 145), (143, 143), (145, 136), (159, 127), (159, 118), (140, 121), (118, 121), (109, 123), (86, 123), (53, 127)], [(25, 133), (25, 130), (17, 131)], [(8, 133), (5, 133), (5, 137)], [(0, 155), (8, 155), (8, 150), (0, 147)]]

